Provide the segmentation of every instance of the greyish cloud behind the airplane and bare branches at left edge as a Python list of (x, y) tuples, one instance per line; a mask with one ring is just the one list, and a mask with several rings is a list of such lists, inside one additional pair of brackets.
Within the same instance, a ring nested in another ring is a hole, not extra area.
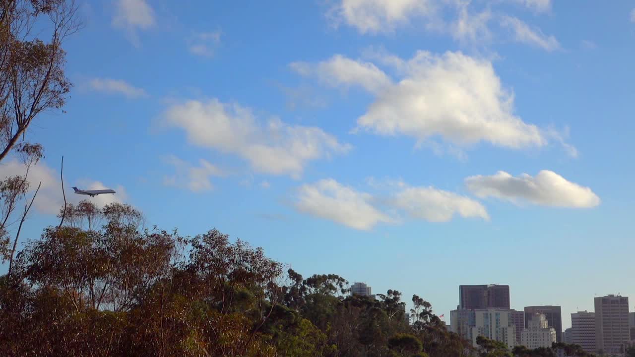
[[(16, 159), (0, 164), (0, 179), (14, 175), (24, 175), (25, 173), (26, 166)], [(62, 185), (60, 183), (60, 175), (57, 170), (47, 166), (44, 161), (40, 161), (37, 165), (30, 167), (27, 180), (30, 184), (30, 195), (35, 193), (37, 185), (39, 182), (42, 182), (42, 185), (37, 192), (37, 197), (33, 203), (33, 207), (37, 210), (37, 212), (53, 215), (59, 213), (60, 208), (64, 207), (64, 196), (62, 195)], [(67, 185), (65, 188), (67, 189), (66, 199), (68, 203), (78, 203), (81, 199), (86, 199), (88, 197), (73, 194), (72, 190), (69, 191), (68, 189), (69, 187), (72, 187), (72, 185), (69, 185), (68, 182), (65, 183)], [(100, 207), (113, 202), (121, 203), (128, 198), (125, 188), (121, 185), (117, 185), (116, 187), (106, 187), (102, 184), (102, 182), (91, 180), (80, 180), (77, 182), (77, 185), (81, 186), (81, 188), (90, 190), (114, 189), (117, 192), (114, 195), (100, 194), (94, 198), (89, 198), (91, 202)]]

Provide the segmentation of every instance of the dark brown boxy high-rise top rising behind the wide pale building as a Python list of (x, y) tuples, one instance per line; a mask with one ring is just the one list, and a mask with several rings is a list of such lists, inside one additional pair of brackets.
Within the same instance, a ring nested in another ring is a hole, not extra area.
[(458, 286), (460, 310), (509, 309), (509, 285)]

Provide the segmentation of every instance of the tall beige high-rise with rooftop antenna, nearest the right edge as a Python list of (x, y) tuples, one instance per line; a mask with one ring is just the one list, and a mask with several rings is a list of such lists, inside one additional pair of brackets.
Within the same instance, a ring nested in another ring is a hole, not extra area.
[(606, 295), (595, 298), (596, 349), (606, 354), (624, 353), (631, 340), (629, 298)]

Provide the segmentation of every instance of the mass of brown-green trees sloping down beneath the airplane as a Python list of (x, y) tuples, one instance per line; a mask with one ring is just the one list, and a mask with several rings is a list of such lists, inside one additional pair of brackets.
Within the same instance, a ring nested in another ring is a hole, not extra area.
[(216, 230), (142, 229), (126, 205), (69, 205), (0, 277), (1, 356), (467, 357), (469, 342), (413, 297), (348, 295)]

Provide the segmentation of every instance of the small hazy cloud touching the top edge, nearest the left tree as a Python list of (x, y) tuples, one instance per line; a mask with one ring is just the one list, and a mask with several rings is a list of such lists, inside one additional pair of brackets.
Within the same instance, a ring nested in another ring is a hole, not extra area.
[(154, 10), (145, 0), (117, 0), (112, 25), (125, 30), (135, 46), (139, 44), (137, 30), (149, 29), (154, 24)]

